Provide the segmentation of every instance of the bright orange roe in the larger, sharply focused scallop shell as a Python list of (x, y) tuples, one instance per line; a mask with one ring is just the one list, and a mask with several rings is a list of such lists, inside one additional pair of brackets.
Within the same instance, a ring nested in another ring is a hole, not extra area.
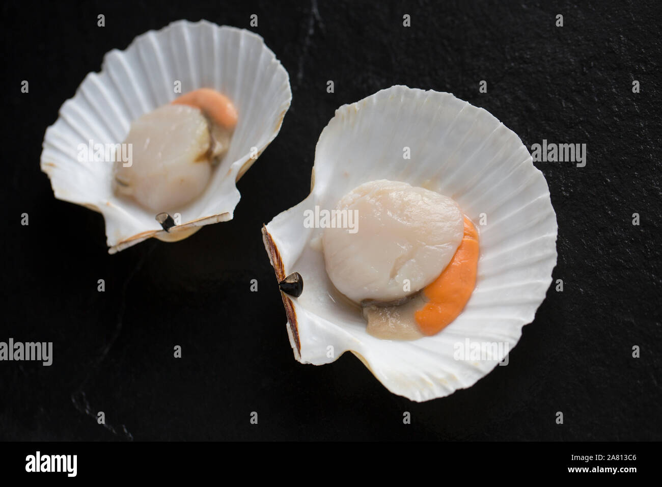
[(430, 302), (414, 313), (423, 335), (439, 333), (462, 312), (476, 286), (478, 254), (478, 232), (465, 217), (464, 236), (455, 255), (444, 272), (423, 288)]

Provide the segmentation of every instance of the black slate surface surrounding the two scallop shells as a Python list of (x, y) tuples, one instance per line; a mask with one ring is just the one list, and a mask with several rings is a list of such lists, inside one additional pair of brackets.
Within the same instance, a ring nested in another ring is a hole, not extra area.
[[(0, 341), (52, 341), (54, 363), (0, 362), (0, 439), (662, 439), (659, 2), (60, 4), (1, 7)], [(56, 200), (40, 172), (46, 127), (108, 50), (182, 18), (250, 28), (253, 13), (293, 102), (239, 182), (234, 220), (110, 256), (103, 217)], [(484, 107), (528, 147), (588, 144), (585, 168), (536, 163), (557, 211), (564, 291), (549, 290), (508, 366), (424, 404), (387, 392), (352, 354), (295, 361), (260, 235), (307, 195), (334, 110), (400, 83)]]

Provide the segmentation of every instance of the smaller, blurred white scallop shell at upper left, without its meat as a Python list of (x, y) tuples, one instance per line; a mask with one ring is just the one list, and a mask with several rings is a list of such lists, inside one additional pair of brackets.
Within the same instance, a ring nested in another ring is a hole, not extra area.
[[(118, 198), (111, 188), (113, 162), (79, 162), (79, 144), (119, 143), (131, 121), (181, 93), (211, 87), (233, 101), (239, 113), (228, 153), (195, 201), (181, 210), (181, 225), (166, 233), (153, 212)], [(240, 199), (238, 180), (275, 138), (289, 108), (289, 76), (253, 32), (207, 21), (177, 21), (134, 39), (124, 51), (108, 52), (100, 73), (89, 73), (60, 117), (46, 130), (41, 168), (55, 196), (103, 213), (112, 254), (157, 237), (185, 238), (203, 225), (232, 219)], [(255, 152), (253, 152), (255, 155)]]

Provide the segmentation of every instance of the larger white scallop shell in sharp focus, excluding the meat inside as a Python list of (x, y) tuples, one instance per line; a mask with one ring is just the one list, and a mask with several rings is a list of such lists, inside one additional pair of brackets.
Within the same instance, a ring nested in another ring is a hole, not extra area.
[[(450, 93), (393, 86), (336, 111), (317, 142), (312, 175), (310, 195), (263, 227), (277, 278), (303, 276), (299, 298), (281, 293), (297, 360), (326, 364), (351, 351), (391, 392), (426, 401), (472, 386), (504, 359), (544, 300), (557, 256), (547, 182), (515, 133)], [(351, 189), (379, 179), (453, 197), (479, 230), (473, 295), (433, 337), (368, 335), (361, 314), (332, 298), (324, 258), (312, 244), (321, 229), (303, 225), (305, 210), (332, 209)], [(482, 343), (483, 354), (461, 360), (467, 345)]]

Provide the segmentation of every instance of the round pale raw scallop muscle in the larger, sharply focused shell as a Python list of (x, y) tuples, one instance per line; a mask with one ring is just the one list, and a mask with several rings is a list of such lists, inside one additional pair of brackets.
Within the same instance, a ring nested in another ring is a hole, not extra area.
[(446, 268), (462, 240), (455, 201), (402, 182), (361, 184), (336, 210), (355, 211), (358, 225), (355, 233), (324, 230), (326, 272), (357, 303), (397, 301), (421, 290)]

